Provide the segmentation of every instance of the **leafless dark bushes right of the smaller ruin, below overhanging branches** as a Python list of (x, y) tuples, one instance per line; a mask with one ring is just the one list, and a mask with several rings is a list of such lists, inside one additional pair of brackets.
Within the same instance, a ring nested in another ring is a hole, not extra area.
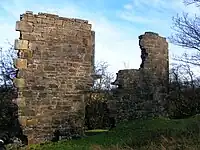
[(189, 64), (177, 64), (170, 70), (169, 103), (172, 118), (189, 117), (200, 112), (200, 82)]

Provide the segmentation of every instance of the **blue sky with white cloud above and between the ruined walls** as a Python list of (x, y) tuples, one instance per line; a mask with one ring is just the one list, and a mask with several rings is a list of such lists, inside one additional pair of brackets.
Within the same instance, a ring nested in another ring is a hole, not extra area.
[[(27, 10), (89, 20), (96, 32), (96, 61), (108, 62), (113, 73), (139, 68), (139, 35), (152, 31), (167, 37), (173, 32), (173, 16), (198, 12), (183, 0), (0, 0), (0, 46), (5, 50), (7, 41), (19, 38), (15, 23)], [(184, 51), (169, 44), (170, 58)]]

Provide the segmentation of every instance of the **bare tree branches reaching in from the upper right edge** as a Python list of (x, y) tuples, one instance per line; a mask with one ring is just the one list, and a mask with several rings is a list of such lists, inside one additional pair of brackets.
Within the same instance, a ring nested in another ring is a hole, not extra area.
[[(184, 3), (200, 6), (200, 0), (184, 0)], [(175, 33), (169, 37), (171, 43), (196, 51), (194, 54), (175, 57), (175, 60), (200, 66), (200, 16), (195, 14), (191, 17), (185, 12), (182, 15), (177, 14), (176, 17), (173, 17), (172, 29)]]

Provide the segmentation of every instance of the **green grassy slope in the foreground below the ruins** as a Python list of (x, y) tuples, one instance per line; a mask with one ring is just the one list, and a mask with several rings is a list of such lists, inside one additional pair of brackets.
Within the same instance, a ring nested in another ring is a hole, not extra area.
[[(80, 140), (31, 145), (32, 150), (198, 150), (200, 117), (157, 118), (119, 124), (111, 131), (92, 130)], [(101, 133), (101, 134), (97, 134)], [(91, 135), (92, 134), (92, 135)]]

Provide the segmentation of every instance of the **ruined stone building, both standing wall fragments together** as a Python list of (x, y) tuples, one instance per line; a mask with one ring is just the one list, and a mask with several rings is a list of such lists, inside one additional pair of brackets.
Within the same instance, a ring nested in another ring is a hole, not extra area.
[[(86, 20), (26, 12), (16, 23), (20, 122), (29, 143), (50, 140), (56, 130), (83, 133), (85, 92), (93, 86), (95, 33)], [(118, 120), (164, 112), (168, 44), (158, 34), (139, 37), (140, 69), (120, 70), (113, 83)], [(143, 97), (142, 97), (143, 96)]]

